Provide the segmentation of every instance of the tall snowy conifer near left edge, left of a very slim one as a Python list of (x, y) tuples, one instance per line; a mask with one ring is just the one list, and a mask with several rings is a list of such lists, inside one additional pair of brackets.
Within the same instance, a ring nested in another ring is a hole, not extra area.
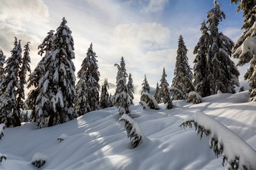
[(21, 65), (21, 40), (14, 40), (14, 49), (11, 50), (11, 57), (6, 60), (4, 74), (6, 75), (1, 81), (0, 96), (0, 113), (1, 123), (5, 123), (7, 127), (21, 125), (21, 111), (17, 105), (18, 91), (21, 91), (21, 85), (18, 81), (18, 72)]

